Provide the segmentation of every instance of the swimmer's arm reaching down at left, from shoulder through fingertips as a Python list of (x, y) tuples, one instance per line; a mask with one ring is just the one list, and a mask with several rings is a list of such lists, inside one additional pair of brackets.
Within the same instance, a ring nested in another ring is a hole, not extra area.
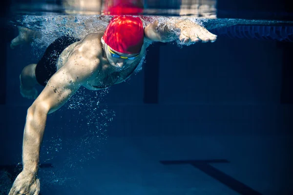
[(94, 54), (97, 50), (87, 47), (90, 41), (78, 43), (67, 63), (49, 79), (27, 110), (22, 145), (23, 170), (14, 181), (9, 195), (38, 194), (40, 183), (36, 175), (47, 115), (59, 109), (88, 78), (95, 76), (99, 59)]

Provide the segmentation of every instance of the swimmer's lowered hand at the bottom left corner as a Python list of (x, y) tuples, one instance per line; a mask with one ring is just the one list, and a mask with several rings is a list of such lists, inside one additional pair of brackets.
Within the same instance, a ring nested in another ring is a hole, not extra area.
[(9, 195), (39, 195), (40, 180), (25, 171), (22, 171), (15, 179)]

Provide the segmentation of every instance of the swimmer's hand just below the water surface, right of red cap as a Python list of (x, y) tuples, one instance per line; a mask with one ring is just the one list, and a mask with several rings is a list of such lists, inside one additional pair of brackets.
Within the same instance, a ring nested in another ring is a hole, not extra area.
[(191, 20), (181, 20), (176, 22), (175, 25), (180, 29), (179, 39), (183, 44), (195, 43), (200, 40), (202, 42), (214, 42), (217, 39), (216, 35)]

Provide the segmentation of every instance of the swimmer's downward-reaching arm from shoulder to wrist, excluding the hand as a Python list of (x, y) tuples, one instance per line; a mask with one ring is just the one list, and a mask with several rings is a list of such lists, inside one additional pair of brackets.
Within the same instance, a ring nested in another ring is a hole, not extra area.
[(83, 50), (86, 48), (77, 48), (72, 53), (67, 63), (49, 79), (42, 93), (27, 111), (22, 146), (23, 171), (27, 174), (36, 175), (38, 172), (47, 115), (62, 107), (92, 77), (97, 67), (95, 64), (99, 64), (98, 59), (90, 62), (87, 59), (89, 55), (84, 55)]

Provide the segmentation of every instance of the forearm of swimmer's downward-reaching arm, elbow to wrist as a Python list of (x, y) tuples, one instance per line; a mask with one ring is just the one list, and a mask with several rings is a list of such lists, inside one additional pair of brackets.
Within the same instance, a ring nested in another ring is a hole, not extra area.
[(37, 175), (40, 149), (47, 119), (44, 109), (32, 105), (27, 111), (23, 133), (22, 163), (23, 171)]

